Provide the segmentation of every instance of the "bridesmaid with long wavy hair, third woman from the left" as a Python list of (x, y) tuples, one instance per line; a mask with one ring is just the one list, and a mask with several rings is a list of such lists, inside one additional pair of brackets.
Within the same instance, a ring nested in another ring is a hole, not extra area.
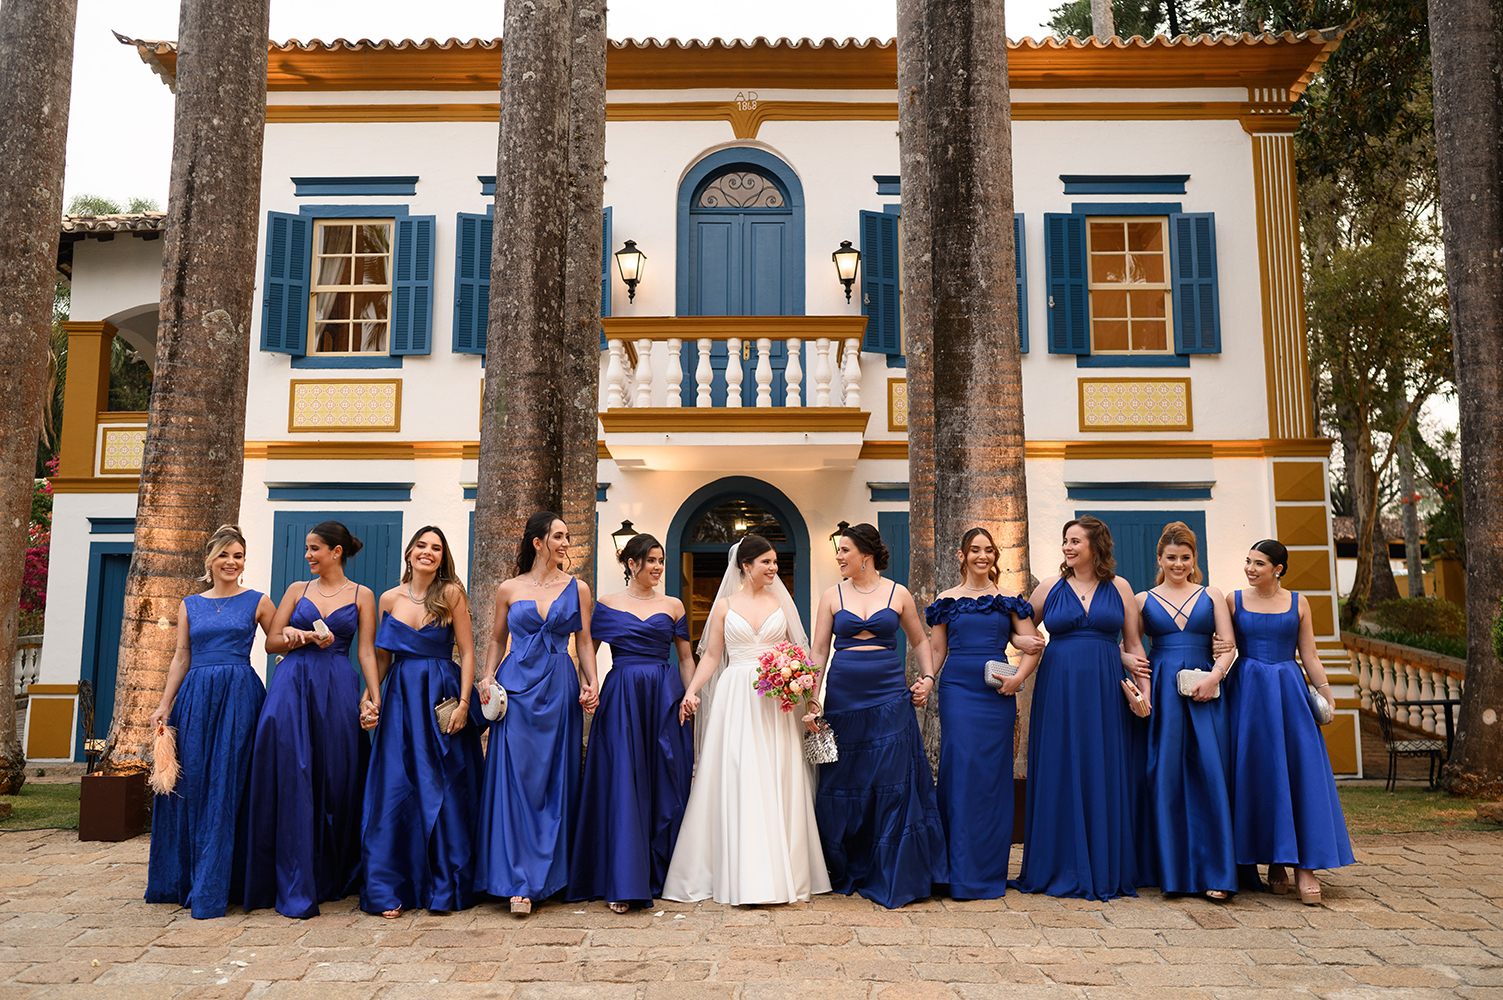
[[(380, 595), (380, 717), (362, 722), (376, 738), (361, 824), (361, 910), (388, 919), (470, 905), (481, 774), (479, 734), (466, 725), (475, 644), (449, 541), (434, 525), (418, 528), (401, 558), (401, 586)], [(434, 705), (451, 698), (458, 707), (442, 729)]]

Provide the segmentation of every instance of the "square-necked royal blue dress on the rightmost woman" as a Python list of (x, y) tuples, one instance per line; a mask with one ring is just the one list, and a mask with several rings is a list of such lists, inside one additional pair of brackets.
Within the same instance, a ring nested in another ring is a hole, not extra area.
[(1326, 740), (1311, 711), (1305, 671), (1294, 660), (1300, 595), (1266, 615), (1241, 606), (1237, 591), (1238, 660), (1232, 665), (1231, 726), (1235, 758), (1238, 865), (1339, 868), (1351, 865), (1347, 818), (1336, 797)]

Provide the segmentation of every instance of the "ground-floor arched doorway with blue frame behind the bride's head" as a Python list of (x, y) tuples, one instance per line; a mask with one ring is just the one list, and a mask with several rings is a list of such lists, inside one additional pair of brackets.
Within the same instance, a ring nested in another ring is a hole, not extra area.
[(726, 571), (726, 553), (745, 534), (759, 534), (777, 552), (777, 571), (809, 629), (809, 528), (782, 490), (744, 475), (696, 490), (673, 514), (667, 538), (666, 591), (684, 602), (694, 644)]

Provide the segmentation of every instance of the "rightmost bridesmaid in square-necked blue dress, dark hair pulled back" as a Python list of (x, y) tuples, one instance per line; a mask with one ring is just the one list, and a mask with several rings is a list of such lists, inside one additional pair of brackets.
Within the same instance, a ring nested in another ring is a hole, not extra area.
[(1354, 859), (1305, 678), (1332, 710), (1336, 701), (1315, 651), (1309, 602), (1281, 585), (1288, 564), (1290, 550), (1273, 538), (1252, 546), (1244, 562), (1250, 592), (1235, 591), (1226, 602), (1241, 653), (1229, 692), (1232, 820), (1237, 863), (1267, 865), (1276, 893), (1290, 890), (1285, 866), (1293, 865), (1300, 901), (1315, 905), (1314, 869)]

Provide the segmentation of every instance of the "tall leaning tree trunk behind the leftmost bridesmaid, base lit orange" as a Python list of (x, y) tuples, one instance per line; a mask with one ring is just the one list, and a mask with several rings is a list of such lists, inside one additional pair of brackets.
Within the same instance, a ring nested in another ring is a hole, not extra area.
[(156, 373), (125, 582), (111, 770), (146, 767), (150, 714), (203, 547), (239, 520), (266, 123), (268, 0), (183, 0)]

